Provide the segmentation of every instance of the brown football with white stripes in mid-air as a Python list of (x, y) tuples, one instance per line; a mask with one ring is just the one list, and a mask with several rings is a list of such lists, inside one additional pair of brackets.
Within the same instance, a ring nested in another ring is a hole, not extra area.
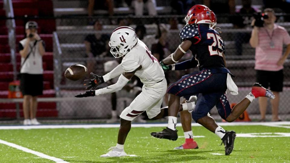
[(69, 66), (64, 73), (64, 76), (69, 80), (77, 81), (85, 77), (88, 73), (88, 69), (81, 64), (74, 64)]

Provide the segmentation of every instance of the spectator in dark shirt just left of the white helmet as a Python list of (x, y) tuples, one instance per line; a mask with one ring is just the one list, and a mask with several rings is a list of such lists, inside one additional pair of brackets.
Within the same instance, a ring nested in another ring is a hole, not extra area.
[[(93, 23), (95, 34), (89, 34), (85, 37), (85, 50), (88, 58), (99, 57), (103, 52), (106, 52), (107, 40), (109, 40), (108, 34), (101, 34), (102, 24), (100, 21)], [(95, 60), (88, 60), (87, 68), (89, 72), (94, 71)]]

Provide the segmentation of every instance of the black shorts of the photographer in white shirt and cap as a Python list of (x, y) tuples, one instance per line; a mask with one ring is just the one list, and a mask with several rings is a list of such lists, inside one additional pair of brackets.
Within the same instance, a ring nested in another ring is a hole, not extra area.
[(22, 73), (20, 78), (20, 90), (23, 95), (42, 95), (43, 75)]

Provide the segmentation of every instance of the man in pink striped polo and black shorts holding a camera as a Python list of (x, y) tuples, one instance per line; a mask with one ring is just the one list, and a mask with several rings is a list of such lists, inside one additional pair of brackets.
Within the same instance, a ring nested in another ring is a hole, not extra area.
[[(276, 97), (271, 100), (272, 121), (281, 121), (278, 117), (279, 92), (283, 89), (283, 64), (290, 53), (290, 36), (275, 21), (276, 16), (271, 8), (266, 8), (263, 14), (257, 14), (252, 22), (254, 27), (250, 45), (256, 48), (256, 82), (265, 88), (270, 87)], [(287, 49), (282, 55), (283, 44), (287, 45)], [(265, 121), (266, 107), (266, 97), (259, 97), (260, 121)]]

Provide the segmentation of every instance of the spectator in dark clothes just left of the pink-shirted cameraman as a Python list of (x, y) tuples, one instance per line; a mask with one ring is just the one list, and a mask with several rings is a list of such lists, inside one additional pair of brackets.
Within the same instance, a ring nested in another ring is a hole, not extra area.
[[(250, 28), (251, 21), (253, 20), (253, 14), (256, 12), (254, 8), (251, 7), (252, 0), (242, 0), (243, 7), (237, 13), (237, 16), (233, 18), (234, 28)], [(251, 16), (240, 16), (239, 14), (249, 14)], [(243, 43), (248, 43), (251, 34), (247, 32), (238, 32), (234, 34), (235, 46), (237, 50), (237, 55), (242, 55), (243, 53)]]

